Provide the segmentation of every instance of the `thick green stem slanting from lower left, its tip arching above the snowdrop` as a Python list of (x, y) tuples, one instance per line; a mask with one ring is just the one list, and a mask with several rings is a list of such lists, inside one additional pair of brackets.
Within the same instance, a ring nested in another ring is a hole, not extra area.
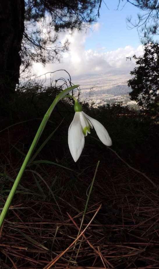
[(32, 155), (32, 153), (33, 153), (33, 151), (34, 151), (34, 149), (35, 149), (37, 143), (38, 143), (38, 140), (39, 140), (41, 134), (43, 133), (43, 130), (44, 130), (44, 128), (45, 128), (45, 125), (47, 124), (47, 121), (49, 120), (50, 115), (51, 115), (51, 113), (52, 113), (54, 107), (56, 106), (56, 104), (57, 104), (63, 97), (66, 96), (66, 94), (68, 94), (68, 92), (72, 91), (73, 89), (77, 88), (78, 86), (79, 86), (79, 85), (74, 85), (74, 86), (69, 87), (69, 88), (63, 90), (62, 92), (60, 92), (60, 93), (56, 96), (56, 98), (54, 99), (54, 101), (52, 102), (52, 104), (51, 104), (50, 108), (48, 109), (48, 111), (46, 112), (46, 114), (44, 115), (43, 120), (42, 120), (42, 122), (41, 122), (41, 124), (40, 124), (40, 126), (39, 126), (39, 128), (38, 128), (38, 131), (37, 131), (37, 133), (36, 133), (36, 135), (35, 135), (35, 138), (33, 139), (33, 142), (32, 142), (32, 144), (31, 144), (31, 146), (30, 146), (30, 148), (29, 148), (29, 151), (28, 151), (28, 153), (26, 154), (26, 157), (25, 157), (25, 159), (24, 159), (24, 162), (23, 162), (23, 164), (22, 164), (22, 167), (20, 168), (20, 171), (19, 171), (19, 173), (18, 173), (18, 175), (17, 175), (17, 177), (16, 177), (16, 179), (15, 179), (15, 182), (14, 182), (14, 184), (13, 184), (13, 187), (12, 187), (12, 189), (10, 190), (10, 193), (9, 193), (9, 195), (8, 195), (8, 198), (7, 198), (7, 200), (6, 200), (6, 203), (5, 203), (5, 205), (4, 205), (4, 207), (3, 207), (3, 210), (2, 210), (2, 212), (1, 212), (1, 215), (0, 215), (0, 228), (1, 228), (1, 226), (2, 226), (2, 224), (3, 224), (3, 221), (4, 221), (5, 217), (6, 217), (7, 211), (8, 211), (8, 209), (9, 209), (9, 206), (10, 206), (10, 204), (11, 204), (11, 202), (12, 202), (12, 199), (13, 199), (13, 197), (14, 197), (14, 195), (15, 195), (15, 192), (16, 192), (16, 190), (17, 190), (17, 187), (18, 187), (18, 184), (19, 184), (19, 182), (20, 182), (20, 179), (22, 178), (22, 175), (23, 175), (23, 173), (24, 173), (24, 170), (25, 170), (25, 168), (26, 168), (26, 165), (28, 164), (29, 159), (31, 158), (31, 155)]

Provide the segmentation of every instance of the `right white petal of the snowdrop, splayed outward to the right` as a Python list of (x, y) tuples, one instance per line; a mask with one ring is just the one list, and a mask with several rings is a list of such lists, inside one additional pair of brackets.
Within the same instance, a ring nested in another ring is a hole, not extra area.
[(82, 113), (93, 124), (93, 127), (96, 130), (97, 136), (103, 142), (103, 144), (106, 145), (106, 146), (112, 146), (112, 139), (110, 138), (109, 133), (107, 132), (107, 130), (105, 129), (105, 127), (100, 122), (98, 122), (98, 120), (95, 120), (95, 119), (89, 117), (83, 111), (82, 111)]

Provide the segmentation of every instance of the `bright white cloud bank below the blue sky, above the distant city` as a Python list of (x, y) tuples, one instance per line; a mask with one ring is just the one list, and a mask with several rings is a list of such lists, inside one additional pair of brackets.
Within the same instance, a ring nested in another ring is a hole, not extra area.
[[(94, 30), (98, 31), (100, 24), (94, 25)], [(136, 49), (131, 46), (118, 48), (113, 51), (106, 51), (105, 47), (98, 50), (85, 49), (86, 39), (93, 34), (91, 30), (77, 31), (73, 33), (60, 33), (59, 38), (61, 43), (64, 43), (66, 38), (70, 42), (69, 51), (63, 54), (61, 63), (47, 64), (45, 67), (40, 63), (33, 64), (33, 70), (37, 75), (46, 72), (52, 72), (58, 69), (66, 69), (71, 76), (84, 74), (100, 74), (105, 72), (116, 72), (119, 74), (126, 72), (130, 73), (135, 66), (135, 60), (126, 60), (126, 57), (132, 57), (134, 54), (140, 56), (143, 54), (143, 47), (140, 45)], [(57, 77), (63, 75), (59, 72)]]

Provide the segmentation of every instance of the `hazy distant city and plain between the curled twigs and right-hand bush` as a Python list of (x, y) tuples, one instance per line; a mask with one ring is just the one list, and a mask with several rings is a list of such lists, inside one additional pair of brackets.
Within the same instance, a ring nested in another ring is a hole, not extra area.
[(128, 87), (127, 81), (130, 78), (130, 74), (109, 72), (77, 76), (73, 77), (72, 81), (80, 84), (80, 99), (88, 100), (89, 103), (93, 101), (94, 107), (117, 102), (123, 102), (123, 105), (136, 106), (136, 102), (129, 98), (131, 88)]

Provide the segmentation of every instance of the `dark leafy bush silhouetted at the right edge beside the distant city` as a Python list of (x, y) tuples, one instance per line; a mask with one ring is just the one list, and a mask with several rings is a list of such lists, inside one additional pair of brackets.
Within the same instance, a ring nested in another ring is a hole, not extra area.
[(144, 55), (137, 57), (136, 67), (130, 74), (133, 76), (128, 81), (132, 88), (130, 99), (153, 114), (159, 112), (159, 45), (151, 42), (145, 45)]

